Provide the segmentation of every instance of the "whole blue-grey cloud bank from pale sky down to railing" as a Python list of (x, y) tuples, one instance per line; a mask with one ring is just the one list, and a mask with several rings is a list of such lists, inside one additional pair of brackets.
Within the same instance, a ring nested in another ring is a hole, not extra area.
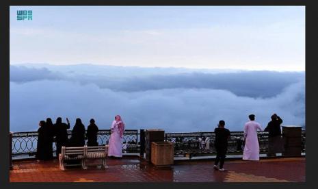
[[(10, 74), (13, 71), (10, 68)], [(246, 73), (219, 77), (195, 73), (119, 80), (76, 74), (53, 77), (51, 72), (47, 72), (49, 78), (44, 74), (42, 79), (25, 79), (29, 76), (23, 73), (29, 75), (25, 70), (10, 77), (11, 131), (34, 131), (38, 121), (47, 117), (54, 121), (57, 116), (64, 121), (67, 116), (72, 125), (82, 118), (85, 126), (95, 118), (100, 129), (108, 129), (116, 114), (122, 115), (127, 129), (168, 132), (213, 131), (220, 119), (231, 131), (241, 131), (251, 113), (263, 127), (274, 112), (282, 117), (283, 125), (305, 122), (303, 73), (248, 73), (249, 77), (244, 77)], [(221, 79), (211, 82), (211, 78)], [(218, 83), (227, 86), (215, 87)], [(129, 85), (137, 90), (125, 90)], [(256, 93), (241, 95), (240, 89)]]

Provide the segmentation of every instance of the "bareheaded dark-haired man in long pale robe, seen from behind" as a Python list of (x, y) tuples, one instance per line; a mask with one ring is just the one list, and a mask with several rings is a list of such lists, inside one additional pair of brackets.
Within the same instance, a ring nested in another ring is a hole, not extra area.
[(258, 161), (259, 160), (259, 139), (257, 138), (257, 130), (262, 127), (255, 120), (255, 115), (248, 116), (250, 121), (244, 125), (244, 151), (243, 160)]

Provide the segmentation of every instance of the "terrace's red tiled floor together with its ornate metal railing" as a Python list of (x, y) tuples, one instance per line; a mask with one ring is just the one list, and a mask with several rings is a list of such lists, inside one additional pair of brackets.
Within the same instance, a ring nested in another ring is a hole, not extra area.
[[(68, 131), (70, 134), (70, 131)], [(98, 132), (99, 145), (107, 144), (109, 130)], [(304, 182), (306, 181), (306, 131), (301, 133), (299, 155), (278, 153), (267, 157), (268, 133), (259, 132), (260, 161), (242, 160), (243, 132), (231, 132), (224, 168), (215, 171), (213, 132), (168, 133), (164, 140), (173, 143), (174, 164), (159, 168), (147, 161), (147, 141), (144, 130), (126, 130), (123, 157), (107, 157), (108, 168), (100, 166), (69, 166), (64, 171), (59, 161), (37, 162), (37, 132), (10, 134), (12, 155), (10, 182)], [(205, 138), (205, 140), (203, 140)], [(204, 142), (203, 142), (204, 141)], [(149, 143), (149, 141), (148, 141)], [(55, 151), (55, 143), (53, 143)], [(90, 160), (94, 164), (94, 161)]]

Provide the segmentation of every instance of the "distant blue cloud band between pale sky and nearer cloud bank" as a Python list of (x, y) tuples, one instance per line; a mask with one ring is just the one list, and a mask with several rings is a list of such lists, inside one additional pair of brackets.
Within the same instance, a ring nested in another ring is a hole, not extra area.
[(65, 80), (96, 84), (100, 88), (137, 92), (172, 88), (207, 88), (233, 92), (238, 96), (273, 97), (283, 88), (304, 81), (303, 72), (232, 71), (184, 68), (138, 68), (122, 66), (49, 66), (27, 68), (10, 66), (10, 81)]

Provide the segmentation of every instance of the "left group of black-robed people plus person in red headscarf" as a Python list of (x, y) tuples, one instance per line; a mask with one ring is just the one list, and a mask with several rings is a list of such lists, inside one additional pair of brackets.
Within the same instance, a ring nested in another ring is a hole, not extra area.
[[(52, 123), (51, 118), (47, 121), (40, 121), (38, 129), (38, 143), (36, 151), (37, 160), (52, 160), (53, 142), (56, 144), (56, 156), (61, 153), (62, 147), (83, 147), (85, 140), (89, 147), (98, 146), (97, 134), (98, 126), (93, 118), (90, 119), (90, 125), (86, 131), (81, 118), (77, 118), (72, 129), (72, 134), (68, 138), (67, 130), (70, 129), (70, 121), (66, 118), (67, 123), (62, 123), (62, 118), (58, 117), (56, 123)], [(122, 157), (122, 136), (124, 134), (124, 122), (120, 115), (115, 116), (111, 124), (111, 136), (109, 138), (108, 155)]]

